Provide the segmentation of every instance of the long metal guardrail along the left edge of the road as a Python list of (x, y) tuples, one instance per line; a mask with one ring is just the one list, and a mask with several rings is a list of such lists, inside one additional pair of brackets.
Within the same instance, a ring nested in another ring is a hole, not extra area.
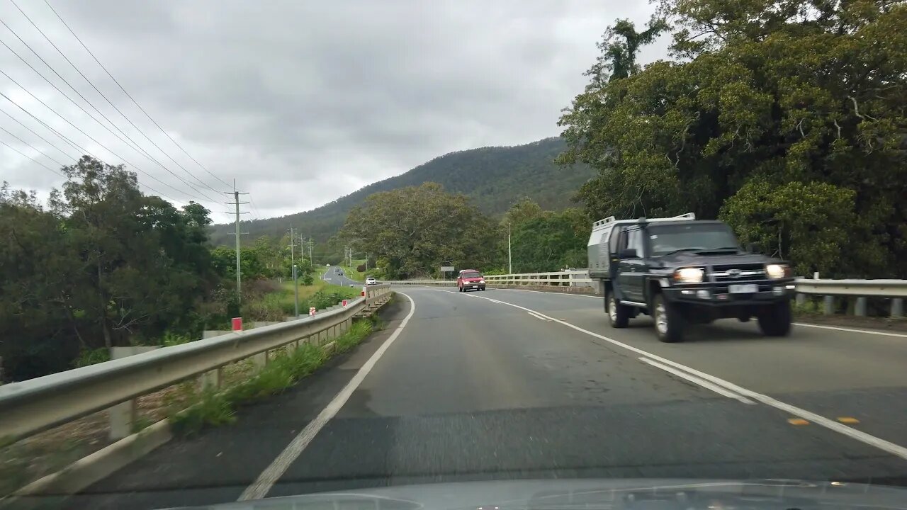
[[(193, 377), (202, 376), (203, 383), (210, 381), (205, 376), (212, 371), (218, 376), (220, 368), (243, 359), (260, 357), (267, 362), (269, 351), (298, 345), (307, 338), (317, 338), (319, 343), (336, 338), (349, 328), (356, 314), (390, 291), (387, 285), (372, 285), (366, 287), (365, 297), (314, 317), (234, 331), (0, 386), (0, 444)], [(219, 377), (214, 379), (219, 384)]]

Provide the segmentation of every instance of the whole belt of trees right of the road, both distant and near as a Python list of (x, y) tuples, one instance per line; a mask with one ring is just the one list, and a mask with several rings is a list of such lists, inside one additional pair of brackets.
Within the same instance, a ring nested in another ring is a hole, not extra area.
[[(503, 219), (426, 182), (374, 193), (340, 239), (378, 278), (439, 267), (586, 267), (590, 223), (695, 212), (797, 275), (907, 277), (907, 5), (661, 0), (645, 27), (607, 28), (561, 116), (563, 172), (596, 175), (580, 210), (516, 201)], [(639, 50), (666, 37), (669, 60)]]

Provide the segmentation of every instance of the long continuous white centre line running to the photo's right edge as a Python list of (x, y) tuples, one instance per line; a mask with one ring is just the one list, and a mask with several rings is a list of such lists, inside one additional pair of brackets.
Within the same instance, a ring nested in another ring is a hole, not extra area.
[[(470, 296), (470, 298), (488, 299), (488, 298), (483, 298), (482, 296)], [(679, 368), (679, 369), (687, 372), (688, 374), (692, 374), (698, 378), (706, 379), (707, 381), (715, 383), (720, 387), (724, 387), (726, 389), (734, 391), (744, 397), (750, 397), (753, 400), (762, 402), (766, 406), (775, 407), (775, 409), (780, 409), (780, 410), (784, 411), (785, 413), (790, 413), (791, 415), (793, 415), (795, 417), (800, 417), (800, 418), (805, 419), (806, 421), (813, 422), (815, 425), (818, 425), (819, 427), (828, 428), (829, 430), (833, 430), (834, 432), (843, 434), (844, 436), (848, 436), (848, 437), (855, 439), (857, 441), (860, 441), (861, 443), (864, 443), (866, 445), (879, 448), (880, 450), (888, 452), (888, 453), (892, 454), (893, 456), (899, 456), (903, 459), (907, 459), (907, 447), (896, 445), (890, 441), (885, 441), (881, 437), (871, 436), (861, 430), (857, 430), (852, 427), (847, 427), (846, 425), (844, 425), (842, 423), (838, 423), (832, 419), (819, 416), (811, 411), (807, 411), (806, 409), (802, 409), (800, 407), (791, 406), (790, 404), (786, 404), (785, 402), (781, 402), (780, 400), (775, 400), (775, 398), (768, 397), (767, 395), (763, 395), (761, 393), (756, 393), (755, 391), (750, 390), (750, 389), (746, 389), (745, 387), (739, 387), (732, 382), (726, 381), (725, 379), (717, 378), (717, 377), (709, 375), (705, 372), (700, 372), (696, 368), (689, 368), (686, 365), (681, 365), (680, 363), (678, 363), (676, 361), (671, 361), (668, 358), (661, 358), (660, 356), (649, 353), (645, 350), (642, 350), (641, 348), (635, 348), (628, 344), (615, 340), (614, 338), (608, 338), (608, 337), (605, 337), (598, 333), (593, 333), (588, 329), (582, 329), (579, 326), (572, 325), (570, 322), (566, 322), (561, 319), (554, 319), (554, 318), (548, 317), (547, 315), (545, 315), (541, 312), (538, 312), (536, 310), (527, 309), (525, 307), (521, 307), (520, 305), (514, 305), (513, 303), (508, 303), (506, 301), (499, 301), (499, 302), (501, 302), (504, 305), (508, 305), (508, 306), (511, 306), (514, 308), (531, 311), (533, 313), (541, 315), (541, 317), (547, 317), (548, 319), (551, 319), (554, 322), (558, 322), (571, 329), (576, 329), (577, 331), (585, 333), (585, 334), (589, 335), (590, 337), (600, 338), (619, 348), (625, 348), (629, 351), (632, 351), (632, 352), (635, 352), (642, 356), (645, 356), (646, 358), (660, 361), (661, 363), (663, 363), (665, 365), (669, 365), (674, 368)]]

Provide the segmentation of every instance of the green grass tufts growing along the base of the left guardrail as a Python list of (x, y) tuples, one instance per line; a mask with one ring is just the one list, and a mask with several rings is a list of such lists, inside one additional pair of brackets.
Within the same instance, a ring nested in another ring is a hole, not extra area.
[[(334, 338), (334, 354), (356, 347), (374, 329), (372, 320), (357, 320), (346, 333)], [(324, 348), (304, 344), (296, 349), (279, 351), (258, 374), (220, 391), (200, 391), (195, 385), (186, 385), (183, 391), (188, 395), (180, 398), (180, 404), (189, 407), (174, 409), (171, 413), (173, 430), (177, 434), (191, 435), (205, 427), (232, 423), (239, 407), (292, 387), (324, 365), (328, 358), (330, 355)]]

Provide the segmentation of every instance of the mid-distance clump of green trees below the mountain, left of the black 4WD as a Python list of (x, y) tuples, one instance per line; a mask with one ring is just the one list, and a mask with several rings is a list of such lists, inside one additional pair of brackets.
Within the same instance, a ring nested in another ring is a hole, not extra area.
[(508, 228), (514, 271), (585, 267), (590, 221), (582, 211), (543, 211), (523, 197), (495, 222), (435, 182), (368, 197), (340, 237), (376, 260), (371, 274), (395, 279), (437, 276), (445, 265), (503, 272)]

